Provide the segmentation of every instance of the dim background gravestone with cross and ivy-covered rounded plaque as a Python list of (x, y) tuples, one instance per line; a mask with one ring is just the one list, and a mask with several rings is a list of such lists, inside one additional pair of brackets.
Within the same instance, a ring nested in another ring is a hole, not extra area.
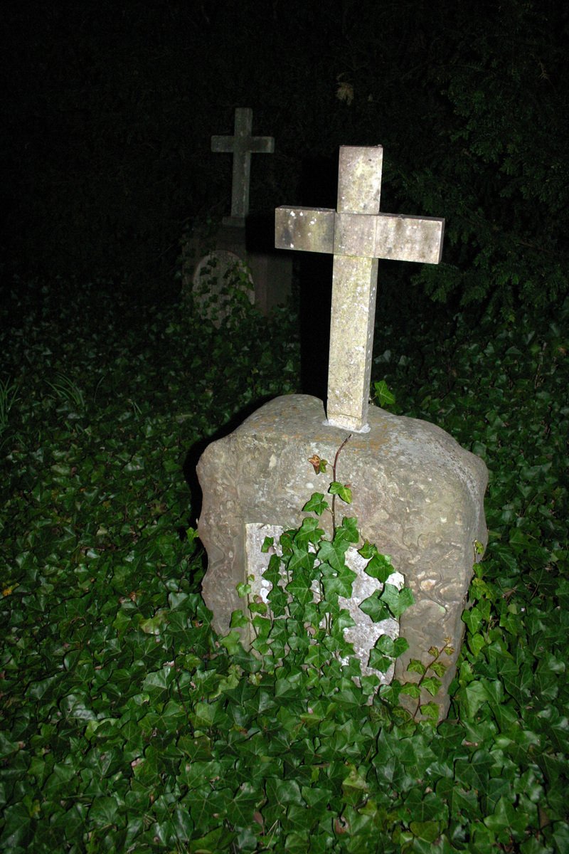
[(236, 108), (233, 136), (212, 137), (213, 152), (233, 155), (231, 215), (206, 237), (195, 231), (183, 243), (183, 286), (193, 291), (204, 318), (214, 322), (224, 316), (224, 302), (235, 286), (247, 289), (250, 285), (249, 298), (265, 315), (290, 295), (292, 262), (288, 255), (272, 246), (250, 248), (251, 155), (275, 150), (272, 137), (253, 137), (252, 131), (253, 110)]

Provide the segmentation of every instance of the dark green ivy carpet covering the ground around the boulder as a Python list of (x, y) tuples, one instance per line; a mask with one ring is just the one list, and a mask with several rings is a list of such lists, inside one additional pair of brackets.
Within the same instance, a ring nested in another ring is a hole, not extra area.
[(489, 546), (436, 726), (399, 709), (398, 686), (367, 705), (341, 670), (278, 679), (210, 628), (189, 452), (298, 390), (294, 317), (215, 330), (102, 283), (15, 282), (0, 848), (568, 851), (566, 319), (376, 331), (395, 410), (491, 472)]

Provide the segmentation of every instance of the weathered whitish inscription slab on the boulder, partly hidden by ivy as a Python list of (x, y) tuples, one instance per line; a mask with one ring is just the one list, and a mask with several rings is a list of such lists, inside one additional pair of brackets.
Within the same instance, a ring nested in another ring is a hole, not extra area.
[[(283, 530), (281, 525), (267, 525), (263, 523), (245, 525), (245, 570), (247, 579), (251, 585), (249, 600), (256, 600), (259, 597), (265, 604), (268, 602), (267, 597), (270, 594), (271, 584), (265, 581), (263, 572), (269, 565), (270, 555), (272, 553), (282, 553), (279, 549), (278, 540)], [(267, 553), (261, 551), (265, 537), (273, 537), (275, 541), (275, 545)], [(377, 590), (381, 591), (383, 585), (376, 578), (371, 578), (366, 574), (365, 567), (368, 561), (363, 559), (362, 555), (358, 554), (355, 548), (348, 548), (345, 553), (345, 564), (356, 573), (351, 599), (345, 599), (343, 596), (338, 597), (340, 608), (345, 608), (354, 623), (356, 623), (351, 629), (345, 629), (345, 639), (353, 644), (354, 653), (362, 665), (362, 675), (369, 676), (369, 674), (374, 674), (378, 677), (380, 684), (386, 684), (392, 681), (395, 664), (392, 664), (383, 673), (380, 670), (374, 670), (368, 666), (369, 652), (374, 648), (380, 635), (389, 635), (392, 640), (399, 637), (399, 621), (388, 619), (374, 623), (371, 617), (360, 611), (359, 605), (362, 604), (363, 600), (368, 599)], [(404, 577), (400, 572), (392, 572), (391, 576), (387, 578), (387, 582), (400, 590), (404, 586)], [(313, 584), (312, 589), (315, 601), (318, 601), (319, 594), (316, 582)], [(247, 640), (249, 643), (253, 642), (253, 629), (250, 635), (248, 635)], [(345, 663), (347, 664), (347, 662)]]

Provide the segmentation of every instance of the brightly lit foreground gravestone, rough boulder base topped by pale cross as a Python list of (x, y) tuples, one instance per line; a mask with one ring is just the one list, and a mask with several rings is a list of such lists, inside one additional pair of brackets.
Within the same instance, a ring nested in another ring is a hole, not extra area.
[[(433, 647), (452, 647), (434, 698), (442, 718), (462, 643), (474, 543), (486, 541), (487, 471), (434, 424), (369, 407), (378, 258), (438, 263), (444, 229), (442, 219), (379, 212), (381, 162), (380, 146), (343, 147), (336, 211), (276, 211), (277, 246), (334, 254), (328, 411), (309, 395), (280, 397), (206, 448), (198, 464), (199, 533), (208, 556), (203, 593), (215, 628), (226, 632), (231, 612), (242, 607), (236, 584), (262, 571), (251, 526), (298, 527), (300, 508), (328, 486), (309, 460), (334, 459), (351, 434), (339, 471), (353, 496), (346, 515), (357, 517), (364, 539), (392, 556), (415, 597), (400, 618), (409, 650), (396, 660), (395, 676), (418, 681), (406, 672), (409, 660), (427, 666)], [(372, 639), (365, 615), (357, 608), (354, 615), (353, 640), (367, 664)]]

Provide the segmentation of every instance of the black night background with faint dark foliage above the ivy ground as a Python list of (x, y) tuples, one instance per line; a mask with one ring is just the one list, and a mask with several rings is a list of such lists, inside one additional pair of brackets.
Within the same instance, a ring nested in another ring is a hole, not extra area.
[(554, 0), (14, 3), (4, 13), (4, 278), (175, 298), (184, 227), (229, 213), (212, 134), (253, 108), (251, 211), (335, 207), (341, 144), (384, 146), (381, 209), (446, 219), (393, 290), (554, 307), (567, 292), (567, 36)]

